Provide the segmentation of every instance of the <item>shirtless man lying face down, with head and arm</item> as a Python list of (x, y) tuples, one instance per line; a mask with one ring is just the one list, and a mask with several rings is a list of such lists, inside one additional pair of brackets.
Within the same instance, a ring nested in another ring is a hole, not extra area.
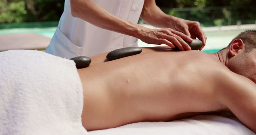
[(238, 35), (218, 53), (142, 54), (78, 69), (84, 89), (83, 126), (107, 129), (139, 121), (171, 121), (230, 111), (256, 132), (256, 30)]

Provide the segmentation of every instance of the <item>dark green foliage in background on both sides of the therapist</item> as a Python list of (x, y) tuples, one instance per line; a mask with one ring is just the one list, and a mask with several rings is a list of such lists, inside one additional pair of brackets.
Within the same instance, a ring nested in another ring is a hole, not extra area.
[[(256, 0), (156, 0), (166, 13), (202, 26), (254, 24)], [(64, 0), (0, 0), (0, 23), (58, 21)]]

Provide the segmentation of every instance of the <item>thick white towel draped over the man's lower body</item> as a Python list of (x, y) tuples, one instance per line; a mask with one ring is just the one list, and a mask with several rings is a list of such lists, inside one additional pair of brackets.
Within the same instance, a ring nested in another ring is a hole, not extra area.
[(40, 51), (0, 52), (0, 135), (86, 135), (75, 63)]

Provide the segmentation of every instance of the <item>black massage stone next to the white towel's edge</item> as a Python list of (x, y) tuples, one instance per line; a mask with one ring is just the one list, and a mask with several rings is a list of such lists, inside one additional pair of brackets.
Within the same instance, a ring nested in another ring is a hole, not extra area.
[(91, 58), (86, 56), (78, 56), (78, 57), (71, 58), (70, 60), (73, 60), (76, 63), (76, 68), (88, 67), (92, 62)]

